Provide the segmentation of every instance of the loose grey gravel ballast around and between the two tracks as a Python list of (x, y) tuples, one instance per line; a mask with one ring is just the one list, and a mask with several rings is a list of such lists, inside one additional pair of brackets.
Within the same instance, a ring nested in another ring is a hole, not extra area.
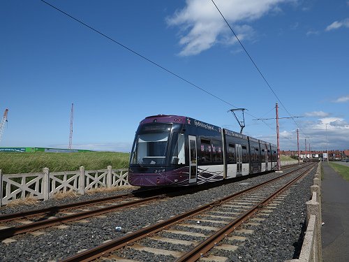
[[(246, 235), (244, 245), (239, 246), (235, 252), (215, 250), (212, 254), (227, 256), (230, 261), (285, 261), (297, 258), (305, 230), (306, 201), (311, 196), (311, 185), (315, 169), (301, 182), (291, 187), (291, 192), (284, 198), (283, 203), (266, 217), (260, 226), (255, 226), (253, 235)], [(195, 194), (166, 198), (156, 203), (144, 205), (140, 208), (128, 208), (119, 212), (106, 214), (105, 217), (90, 217), (88, 223), (74, 222), (67, 224), (68, 228), (47, 228), (41, 230), (43, 235), (31, 234), (17, 235), (13, 239), (16, 242), (8, 244), (0, 243), (2, 250), (1, 261), (57, 261), (71, 256), (82, 249), (89, 249), (101, 245), (102, 242), (117, 239), (125, 233), (136, 231), (144, 226), (155, 224), (157, 221), (168, 219), (181, 212), (186, 212), (200, 205), (218, 200), (224, 196), (236, 193), (255, 184), (259, 184), (274, 177), (277, 173), (269, 173), (258, 177), (250, 177), (246, 180), (224, 184), (220, 187), (207, 189)], [(84, 195), (74, 201), (84, 201), (84, 198), (111, 196), (111, 194), (125, 194), (128, 191), (117, 191), (104, 194)], [(68, 200), (51, 200), (38, 203), (36, 208), (47, 208), (52, 205), (63, 205)], [(27, 206), (13, 208), (1, 208), (1, 213), (24, 211)], [(33, 208), (33, 207), (30, 207)], [(115, 230), (121, 226), (121, 231)], [(161, 233), (163, 237), (174, 237), (179, 240), (198, 241), (197, 237), (177, 235), (174, 233)], [(142, 240), (140, 244), (148, 247), (168, 247), (173, 244), (154, 240)], [(230, 244), (232, 244), (230, 242)], [(235, 242), (233, 245), (239, 243)], [(177, 245), (178, 252), (187, 251), (191, 246)], [(133, 249), (123, 249), (117, 252), (119, 256), (128, 254), (128, 258), (140, 261), (174, 261), (172, 256), (154, 255), (149, 252), (134, 252)]]

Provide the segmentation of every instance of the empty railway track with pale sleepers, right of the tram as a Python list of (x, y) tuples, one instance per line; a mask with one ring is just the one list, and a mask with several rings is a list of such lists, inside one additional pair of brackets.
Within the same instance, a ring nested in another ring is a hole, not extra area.
[[(221, 245), (219, 242), (225, 238), (231, 238), (233, 231), (244, 224), (257, 212), (263, 212), (263, 208), (285, 191), (292, 184), (297, 182), (309, 173), (314, 165), (302, 166), (281, 177), (251, 187), (237, 194), (232, 194), (218, 201), (202, 205), (195, 210), (184, 212), (166, 221), (147, 226), (133, 233), (124, 235), (117, 240), (109, 242), (70, 256), (64, 261), (92, 261), (94, 259), (106, 259), (115, 261), (128, 258), (128, 250), (139, 252), (152, 252), (154, 254), (167, 254), (169, 260), (177, 261), (226, 261), (221, 256), (210, 255), (211, 249), (232, 250), (237, 247), (233, 245)], [(302, 173), (297, 174), (299, 170)], [(251, 224), (251, 223), (250, 223)], [(200, 240), (185, 241), (173, 238), (165, 238), (162, 235), (191, 235)], [(146, 247), (142, 242), (158, 241), (172, 242), (186, 246), (184, 251), (165, 250), (161, 248)], [(116, 253), (115, 253), (116, 252)], [(103, 257), (102, 257), (103, 256)], [(120, 258), (119, 256), (122, 256)], [(133, 260), (134, 261), (134, 260)]]

